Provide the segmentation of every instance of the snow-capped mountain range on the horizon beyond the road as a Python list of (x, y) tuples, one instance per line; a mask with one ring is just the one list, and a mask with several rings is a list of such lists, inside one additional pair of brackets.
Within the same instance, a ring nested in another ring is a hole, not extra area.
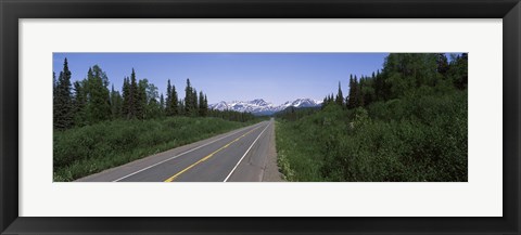
[(288, 101), (281, 105), (274, 105), (270, 102), (266, 102), (263, 99), (255, 99), (253, 101), (232, 101), (232, 102), (219, 102), (208, 105), (209, 108), (218, 110), (236, 110), (247, 112), (254, 115), (271, 115), (274, 113), (283, 110), (288, 107), (316, 107), (322, 104), (322, 101), (315, 101), (312, 99), (297, 99), (295, 101)]

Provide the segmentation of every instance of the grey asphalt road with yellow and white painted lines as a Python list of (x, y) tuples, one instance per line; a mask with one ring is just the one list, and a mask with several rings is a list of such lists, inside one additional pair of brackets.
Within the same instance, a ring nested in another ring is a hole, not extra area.
[[(274, 120), (180, 146), (78, 181), (255, 182), (262, 181)], [(272, 146), (271, 146), (272, 148)]]

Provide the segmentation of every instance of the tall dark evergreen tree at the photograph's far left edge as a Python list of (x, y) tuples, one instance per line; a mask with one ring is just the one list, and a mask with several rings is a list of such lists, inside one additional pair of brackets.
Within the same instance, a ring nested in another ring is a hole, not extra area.
[(53, 126), (55, 129), (67, 129), (73, 126), (73, 99), (67, 58), (63, 62), (63, 70), (56, 82), (53, 99)]

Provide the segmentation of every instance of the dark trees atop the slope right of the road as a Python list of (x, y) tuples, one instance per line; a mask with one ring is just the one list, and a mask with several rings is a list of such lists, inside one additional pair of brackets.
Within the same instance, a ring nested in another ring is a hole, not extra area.
[(422, 87), (467, 89), (468, 54), (392, 53), (385, 57), (382, 71), (371, 76), (350, 76), (350, 92), (343, 96), (341, 83), (336, 95), (323, 99), (322, 107), (336, 104), (345, 108), (366, 107), (378, 101), (390, 101), (416, 92)]

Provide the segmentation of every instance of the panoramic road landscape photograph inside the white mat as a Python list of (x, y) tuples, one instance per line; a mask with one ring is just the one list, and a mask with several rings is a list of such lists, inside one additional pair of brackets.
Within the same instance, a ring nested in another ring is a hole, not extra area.
[(52, 179), (468, 182), (468, 56), (54, 52)]

